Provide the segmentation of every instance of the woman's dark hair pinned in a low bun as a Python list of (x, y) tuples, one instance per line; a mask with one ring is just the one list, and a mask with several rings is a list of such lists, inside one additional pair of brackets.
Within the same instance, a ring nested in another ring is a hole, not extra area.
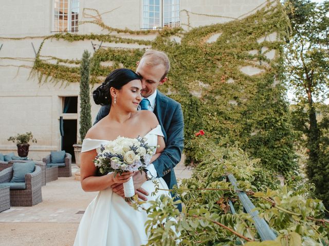
[(120, 90), (122, 86), (135, 79), (140, 79), (140, 77), (133, 70), (120, 68), (112, 71), (112, 73), (107, 75), (102, 85), (97, 87), (93, 92), (95, 104), (111, 105), (112, 98), (109, 94), (109, 89), (114, 87), (115, 89)]

